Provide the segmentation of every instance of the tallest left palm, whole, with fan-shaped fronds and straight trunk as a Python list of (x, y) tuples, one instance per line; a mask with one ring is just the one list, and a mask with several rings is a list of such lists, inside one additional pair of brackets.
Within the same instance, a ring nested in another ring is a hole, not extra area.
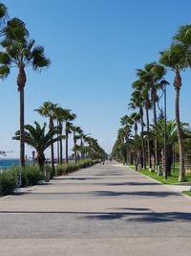
[(18, 68), (17, 86), (20, 96), (20, 165), (25, 167), (25, 132), (24, 132), (24, 87), (27, 81), (25, 69), (32, 66), (33, 70), (48, 67), (51, 63), (44, 55), (44, 48), (35, 46), (34, 40), (28, 36), (11, 38), (6, 36), (0, 42), (3, 52), (0, 52), (0, 77), (5, 79), (11, 72), (11, 66)]

